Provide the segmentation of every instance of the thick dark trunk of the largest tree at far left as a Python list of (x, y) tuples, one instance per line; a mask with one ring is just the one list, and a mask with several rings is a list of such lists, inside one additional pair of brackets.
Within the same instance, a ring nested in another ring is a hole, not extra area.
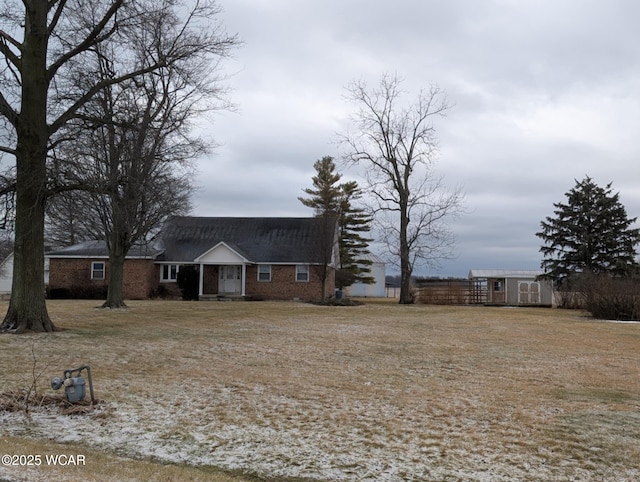
[(53, 331), (44, 293), (47, 156), (46, 0), (29, 2), (22, 52), (22, 106), (16, 122), (16, 240), (13, 286), (2, 331)]

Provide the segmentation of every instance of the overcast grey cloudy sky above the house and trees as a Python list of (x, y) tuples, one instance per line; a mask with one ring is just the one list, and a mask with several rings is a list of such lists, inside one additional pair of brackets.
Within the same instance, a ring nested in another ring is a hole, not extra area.
[(203, 125), (219, 146), (198, 164), (194, 215), (312, 215), (297, 198), (316, 160), (360, 180), (339, 162), (346, 86), (394, 74), (407, 102), (446, 92), (435, 171), (465, 193), (454, 257), (416, 274), (539, 269), (540, 221), (587, 175), (640, 216), (640, 2), (218, 1), (243, 41), (223, 66), (236, 108)]

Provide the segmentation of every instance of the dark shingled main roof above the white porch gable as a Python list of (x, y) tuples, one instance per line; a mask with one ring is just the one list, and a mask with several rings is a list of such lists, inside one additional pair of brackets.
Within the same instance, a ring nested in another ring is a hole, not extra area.
[(174, 217), (162, 230), (157, 259), (192, 262), (225, 243), (253, 263), (322, 262), (325, 225), (323, 218)]

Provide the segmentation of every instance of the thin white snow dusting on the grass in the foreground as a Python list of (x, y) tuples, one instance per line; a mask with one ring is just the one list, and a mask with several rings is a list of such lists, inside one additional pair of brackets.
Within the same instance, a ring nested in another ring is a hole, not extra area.
[[(545, 464), (543, 451), (537, 458), (524, 459), (516, 453), (509, 457), (505, 448), (507, 456), (500, 457), (492, 455), (496, 451), (485, 451), (477, 437), (465, 443), (465, 433), (481, 434), (483, 428), (472, 427), (477, 421), (465, 420), (464, 407), (442, 439), (425, 423), (433, 414), (403, 413), (379, 401), (352, 406), (326, 406), (319, 400), (301, 403), (269, 395), (260, 386), (251, 393), (217, 387), (212, 390), (215, 396), (203, 400), (192, 395), (193, 388), (168, 387), (160, 399), (105, 403), (89, 415), (60, 415), (51, 407), (36, 409), (29, 417), (5, 412), (0, 414), (0, 427), (7, 435), (271, 477), (383, 482), (592, 480), (579, 467), (568, 467), (574, 479), (556, 477)], [(390, 419), (394, 429), (385, 424)], [(638, 476), (618, 473), (615, 480)]]

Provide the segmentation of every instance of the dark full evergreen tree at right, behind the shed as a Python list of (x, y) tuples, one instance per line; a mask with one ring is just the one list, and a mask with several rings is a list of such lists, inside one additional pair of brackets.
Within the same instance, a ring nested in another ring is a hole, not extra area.
[(640, 229), (631, 228), (637, 218), (627, 217), (611, 183), (602, 188), (587, 176), (576, 180), (565, 196), (567, 203), (554, 203), (555, 217), (546, 217), (540, 223), (542, 230), (536, 233), (544, 242), (540, 248), (544, 277), (562, 287), (580, 273), (635, 273)]

